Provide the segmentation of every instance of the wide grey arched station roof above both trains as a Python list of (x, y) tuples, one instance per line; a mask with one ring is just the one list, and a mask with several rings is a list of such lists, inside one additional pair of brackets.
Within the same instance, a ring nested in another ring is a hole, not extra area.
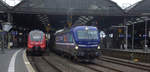
[(22, 0), (14, 13), (122, 16), (124, 11), (111, 0)]

